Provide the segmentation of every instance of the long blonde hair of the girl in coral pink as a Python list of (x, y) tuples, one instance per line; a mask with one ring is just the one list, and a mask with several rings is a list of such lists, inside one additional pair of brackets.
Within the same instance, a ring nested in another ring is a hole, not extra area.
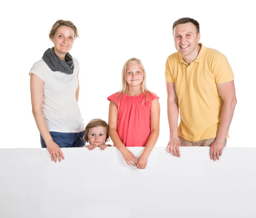
[[(128, 85), (126, 79), (125, 79), (126, 69), (130, 64), (134, 64), (134, 63), (140, 64), (140, 66), (143, 69), (143, 73), (144, 73), (143, 81), (140, 84), (140, 91), (141, 91), (141, 93), (143, 93), (143, 96), (144, 96), (142, 105), (146, 102), (146, 100), (148, 98), (148, 90), (147, 90), (147, 87), (146, 87), (146, 71), (145, 71), (145, 68), (144, 68), (142, 62), (140, 61), (140, 59), (130, 58), (128, 61), (125, 62), (124, 66), (123, 66), (123, 69), (122, 69), (122, 89), (119, 91), (118, 95), (116, 96), (116, 98), (118, 100), (118, 108), (119, 108), (119, 103), (120, 103), (119, 98), (118, 98), (119, 95), (121, 95), (121, 94), (127, 95), (128, 90), (129, 90), (129, 85)], [(117, 110), (118, 110), (118, 108), (117, 108)]]

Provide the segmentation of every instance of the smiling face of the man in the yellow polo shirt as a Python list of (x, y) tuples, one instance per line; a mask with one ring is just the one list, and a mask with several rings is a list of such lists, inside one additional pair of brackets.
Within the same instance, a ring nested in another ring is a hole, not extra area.
[(178, 24), (173, 30), (173, 36), (175, 48), (183, 57), (188, 57), (197, 52), (195, 49), (200, 40), (200, 33), (197, 33), (193, 23)]

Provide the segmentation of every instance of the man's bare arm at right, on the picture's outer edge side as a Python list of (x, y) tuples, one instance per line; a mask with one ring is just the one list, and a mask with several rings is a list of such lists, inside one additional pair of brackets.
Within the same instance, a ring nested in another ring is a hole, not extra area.
[(212, 142), (210, 150), (211, 160), (213, 159), (214, 161), (216, 158), (219, 160), (219, 156), (222, 154), (224, 140), (230, 127), (237, 102), (234, 80), (217, 84), (217, 87), (224, 104), (221, 110), (220, 125), (216, 139)]

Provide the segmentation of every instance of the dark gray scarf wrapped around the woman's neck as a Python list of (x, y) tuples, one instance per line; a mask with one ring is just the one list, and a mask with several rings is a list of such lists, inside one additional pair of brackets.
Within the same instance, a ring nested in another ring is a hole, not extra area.
[(52, 71), (60, 71), (66, 74), (72, 74), (74, 70), (73, 58), (69, 52), (65, 56), (65, 61), (62, 61), (54, 52), (54, 47), (47, 49), (42, 57), (44, 62)]

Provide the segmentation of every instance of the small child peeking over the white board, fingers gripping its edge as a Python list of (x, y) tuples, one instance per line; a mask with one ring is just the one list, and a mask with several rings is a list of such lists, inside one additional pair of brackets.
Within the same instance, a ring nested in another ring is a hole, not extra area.
[(89, 150), (99, 147), (105, 150), (107, 146), (105, 143), (109, 141), (108, 124), (102, 119), (92, 119), (85, 127), (84, 141), (89, 142), (86, 145)]

